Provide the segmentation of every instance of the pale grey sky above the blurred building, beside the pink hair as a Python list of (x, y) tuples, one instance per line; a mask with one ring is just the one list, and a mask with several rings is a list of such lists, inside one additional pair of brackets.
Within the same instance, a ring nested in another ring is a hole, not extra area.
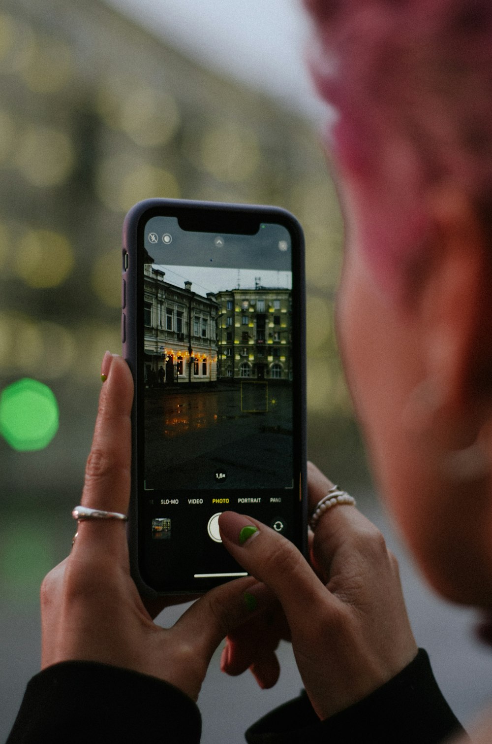
[(310, 38), (300, 0), (105, 0), (196, 62), (314, 119), (326, 109), (306, 65)]

